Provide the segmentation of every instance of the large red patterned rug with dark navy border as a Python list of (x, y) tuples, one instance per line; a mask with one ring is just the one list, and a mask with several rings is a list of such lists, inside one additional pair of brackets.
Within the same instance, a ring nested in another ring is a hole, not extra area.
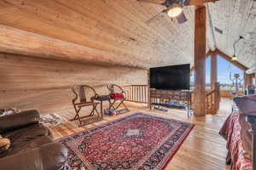
[(60, 139), (68, 164), (84, 169), (164, 169), (194, 127), (135, 113)]

